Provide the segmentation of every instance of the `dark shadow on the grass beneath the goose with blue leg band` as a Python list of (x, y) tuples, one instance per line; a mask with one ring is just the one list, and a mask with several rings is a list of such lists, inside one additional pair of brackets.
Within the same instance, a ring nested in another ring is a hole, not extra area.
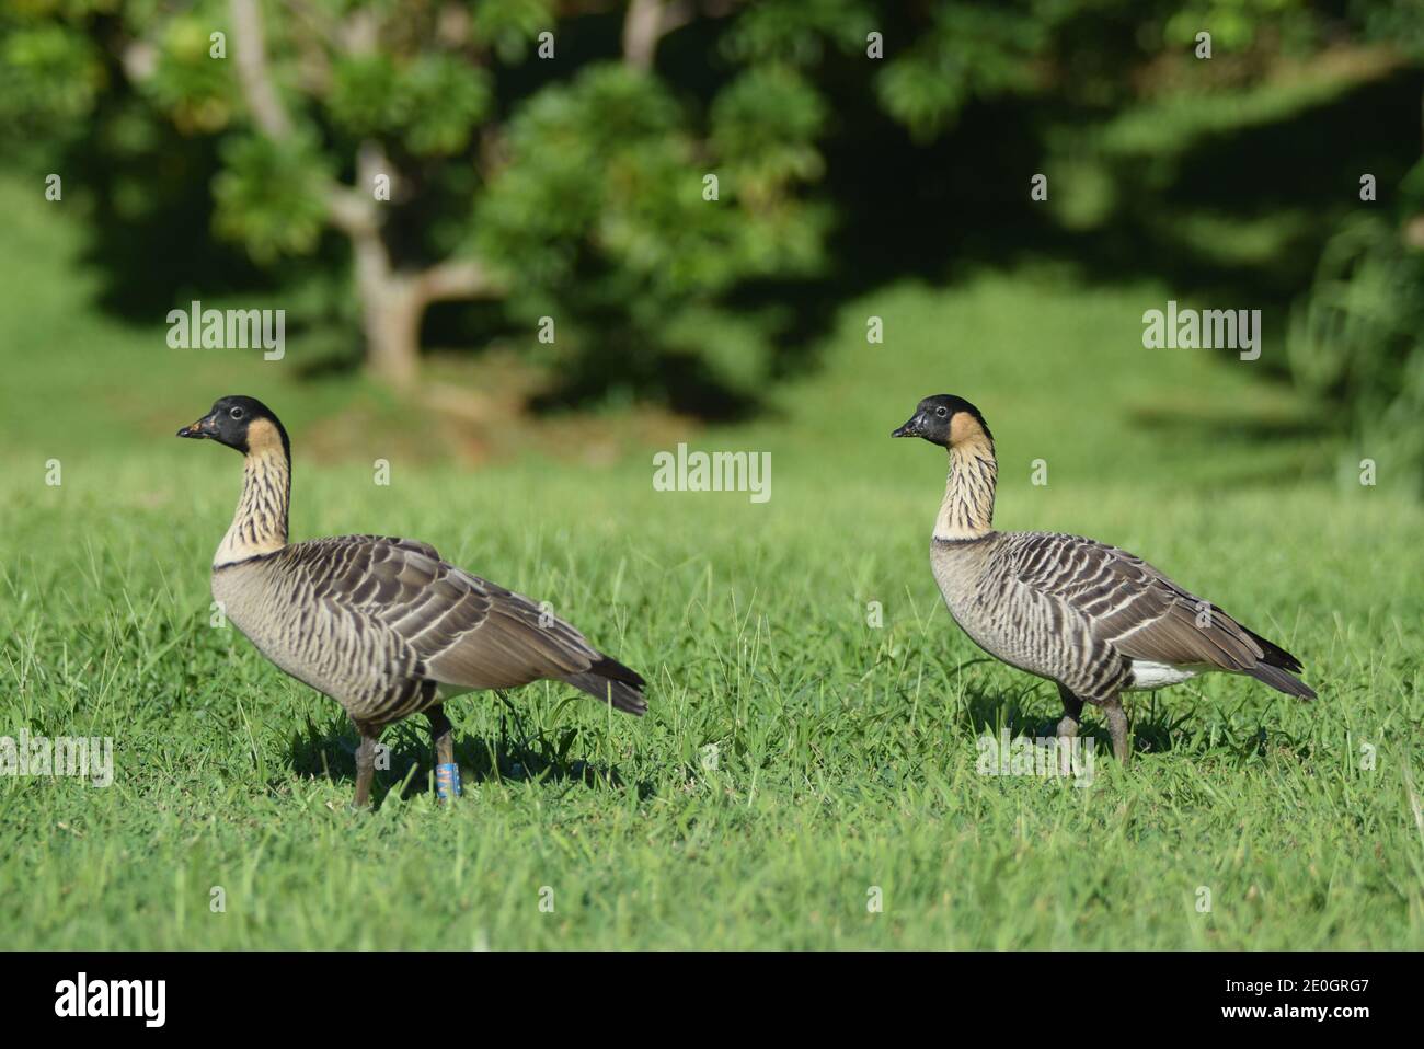
[[(454, 760), (466, 783), (582, 783), (594, 789), (632, 789), (639, 800), (654, 793), (651, 781), (629, 783), (617, 764), (570, 757), (582, 733), (581, 726), (531, 732), (520, 712), (506, 702), (500, 707), (498, 736), (470, 737), (456, 727)], [(357, 742), (343, 716), (322, 723), (308, 717), (305, 729), (292, 733), (292, 770), (299, 776), (349, 784), (355, 793)], [(416, 715), (387, 727), (380, 742), (390, 749), (390, 769), (376, 770), (372, 783), (375, 807), (379, 808), (392, 791), (399, 791), (402, 800), (433, 791), (434, 752), (424, 716)]]

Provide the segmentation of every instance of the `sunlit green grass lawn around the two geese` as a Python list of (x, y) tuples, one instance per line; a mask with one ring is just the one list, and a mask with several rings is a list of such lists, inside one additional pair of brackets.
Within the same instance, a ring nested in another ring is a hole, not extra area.
[[(1020, 273), (847, 303), (823, 370), (762, 421), (686, 436), (772, 453), (753, 505), (655, 492), (652, 448), (470, 468), (373, 427), (303, 455), (362, 383), (168, 350), (161, 319), (88, 306), (67, 219), (7, 214), (0, 734), (112, 737), (115, 781), (0, 777), (0, 945), (1424, 945), (1424, 514), (1387, 463), (1330, 487), (1339, 450), (1249, 364), (1141, 349), (1169, 289)], [(466, 697), (459, 804), (433, 803), (413, 719), (375, 814), (349, 811), (337, 706), (209, 626), (239, 463), (172, 431), (234, 391), (290, 420), (296, 538), (410, 535), (548, 599), (646, 675), (649, 715), (545, 685)], [(984, 660), (934, 588), (943, 453), (887, 434), (937, 391), (988, 414), (1000, 527), (1148, 557), (1296, 652), (1320, 700), (1208, 678), (1135, 696), (1138, 759), (1087, 790), (977, 774), (983, 732), (1041, 732), (1058, 702)]]

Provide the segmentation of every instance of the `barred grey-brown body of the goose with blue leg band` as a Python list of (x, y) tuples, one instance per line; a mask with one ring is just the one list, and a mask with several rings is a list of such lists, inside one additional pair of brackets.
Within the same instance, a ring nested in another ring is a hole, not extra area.
[[(212, 595), (262, 655), (377, 730), (477, 689), (541, 678), (597, 689), (618, 666), (568, 623), (544, 615), (541, 626), (528, 598), (410, 539), (298, 542), (214, 566)], [(609, 680), (612, 702), (642, 713), (631, 673)]]

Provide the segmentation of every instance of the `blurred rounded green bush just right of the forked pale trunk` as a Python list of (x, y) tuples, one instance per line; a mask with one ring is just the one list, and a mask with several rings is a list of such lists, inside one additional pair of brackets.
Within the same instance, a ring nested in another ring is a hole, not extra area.
[[(796, 90), (790, 74), (762, 84)], [(506, 164), (477, 202), (476, 249), (517, 275), (513, 316), (560, 317), (550, 360), (614, 354), (607, 370), (627, 380), (672, 349), (712, 363), (715, 340), (691, 332), (684, 315), (703, 315), (748, 276), (816, 265), (820, 219), (795, 196), (816, 154), (792, 138), (817, 120), (815, 98), (780, 125), (783, 138), (766, 132), (765, 111), (742, 108), (756, 87), (726, 90), (706, 144), (688, 134), (682, 105), (656, 78), (618, 64), (543, 90), (514, 117)], [(709, 174), (715, 201), (703, 198)]]

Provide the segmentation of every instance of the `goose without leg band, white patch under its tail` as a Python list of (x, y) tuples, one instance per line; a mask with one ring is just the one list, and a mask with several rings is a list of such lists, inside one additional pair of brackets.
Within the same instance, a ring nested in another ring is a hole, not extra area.
[(930, 566), (950, 615), (991, 656), (1058, 685), (1058, 736), (1078, 734), (1084, 703), (1102, 707), (1112, 752), (1132, 750), (1121, 693), (1206, 670), (1245, 673), (1287, 696), (1316, 693), (1300, 660), (1141, 558), (1078, 535), (995, 532), (994, 437), (961, 397), (926, 397), (891, 437), (948, 448), (950, 477)]

